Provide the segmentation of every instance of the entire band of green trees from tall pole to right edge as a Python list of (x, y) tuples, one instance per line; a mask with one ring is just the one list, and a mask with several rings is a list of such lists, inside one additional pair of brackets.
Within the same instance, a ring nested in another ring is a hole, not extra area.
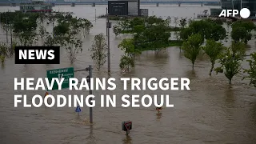
[[(234, 75), (242, 72), (242, 61), (246, 59), (246, 44), (252, 39), (252, 31), (256, 29), (253, 22), (226, 22), (228, 29), (230, 26), (232, 28), (230, 35), (227, 35), (229, 31), (226, 31), (224, 22), (219, 19), (187, 21), (182, 18), (177, 22), (177, 18), (174, 18), (174, 21), (179, 23), (179, 28), (170, 26), (170, 18), (134, 18), (118, 22), (118, 25), (114, 26), (116, 35), (128, 33), (133, 36), (123, 39), (118, 45), (125, 52), (120, 61), (120, 68), (129, 70), (134, 67), (134, 55), (142, 54), (144, 50), (158, 52), (169, 46), (179, 46), (177, 42), (182, 42), (181, 50), (184, 56), (190, 59), (193, 69), (198, 55), (203, 51), (210, 58), (210, 75), (213, 70), (217, 74), (224, 73), (231, 83)], [(177, 36), (175, 41), (170, 41), (172, 31)], [(223, 42), (229, 37), (232, 39), (230, 46), (223, 46)], [(250, 78), (250, 84), (256, 86), (256, 54), (250, 55), (250, 69), (243, 72), (249, 75), (246, 78)], [(220, 66), (214, 69), (216, 62)]]

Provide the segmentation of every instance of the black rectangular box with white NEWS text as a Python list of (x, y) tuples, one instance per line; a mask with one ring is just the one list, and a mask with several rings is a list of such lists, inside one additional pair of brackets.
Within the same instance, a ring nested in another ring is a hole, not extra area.
[(59, 64), (59, 46), (16, 46), (15, 64)]

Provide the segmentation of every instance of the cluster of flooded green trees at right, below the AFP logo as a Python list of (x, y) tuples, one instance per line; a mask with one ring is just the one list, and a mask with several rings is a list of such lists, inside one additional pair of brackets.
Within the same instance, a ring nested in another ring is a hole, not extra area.
[[(181, 30), (180, 36), (184, 40), (182, 50), (184, 56), (190, 59), (194, 69), (194, 62), (198, 58), (200, 51), (203, 50), (210, 58), (210, 75), (215, 70), (224, 73), (231, 83), (234, 75), (242, 71), (242, 61), (246, 58), (246, 43), (251, 40), (251, 32), (256, 29), (253, 22), (237, 21), (232, 23), (231, 45), (223, 46), (223, 40), (227, 38), (226, 30), (221, 24), (206, 19), (191, 22), (190, 26)], [(203, 45), (205, 44), (205, 45)], [(220, 64), (214, 69), (215, 62)], [(255, 82), (255, 53), (251, 54), (250, 69), (244, 70), (250, 78), (250, 84)]]

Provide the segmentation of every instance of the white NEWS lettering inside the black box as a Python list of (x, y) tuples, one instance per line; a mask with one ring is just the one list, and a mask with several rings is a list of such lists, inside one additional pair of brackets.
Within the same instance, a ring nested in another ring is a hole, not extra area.
[(18, 50), (19, 59), (54, 59), (54, 50)]

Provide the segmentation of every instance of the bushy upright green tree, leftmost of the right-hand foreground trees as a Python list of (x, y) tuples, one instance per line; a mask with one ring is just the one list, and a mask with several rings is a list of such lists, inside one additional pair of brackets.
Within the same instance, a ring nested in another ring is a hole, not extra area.
[(201, 45), (203, 38), (200, 34), (192, 34), (190, 38), (182, 45), (182, 50), (184, 51), (184, 56), (192, 62), (192, 67), (194, 69), (194, 62), (198, 57), (201, 50)]

